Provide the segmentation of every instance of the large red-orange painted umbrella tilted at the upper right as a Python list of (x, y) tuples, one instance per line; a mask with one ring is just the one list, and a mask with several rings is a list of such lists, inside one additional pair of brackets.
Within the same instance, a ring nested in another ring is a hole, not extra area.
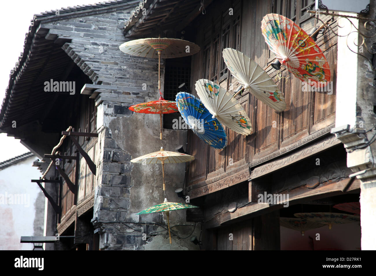
[[(330, 81), (330, 67), (313, 38), (291, 19), (267, 14), (261, 21), (262, 35), (280, 63), (302, 81), (318, 87)], [(309, 81), (312, 80), (313, 82)]]

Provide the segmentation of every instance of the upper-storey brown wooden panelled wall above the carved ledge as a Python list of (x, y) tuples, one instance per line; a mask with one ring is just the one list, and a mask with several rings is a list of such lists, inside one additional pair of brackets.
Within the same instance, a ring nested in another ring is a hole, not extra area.
[[(240, 2), (228, 0), (213, 2), (208, 6), (205, 16), (197, 17), (196, 43), (201, 47), (202, 51), (192, 56), (191, 87), (194, 87), (195, 82), (203, 78), (204, 72), (206, 72), (206, 68), (203, 68), (203, 49), (205, 45), (210, 45), (211, 51), (214, 53), (213, 42), (216, 38), (214, 33), (220, 34), (222, 32), (221, 30), (218, 31), (218, 26), (220, 26), (219, 19), (221, 19), (222, 23), (224, 21), (228, 22), (229, 7), (236, 7), (238, 3)], [(273, 62), (273, 58), (268, 58), (269, 51), (264, 36), (262, 36), (261, 20), (265, 14), (271, 12), (271, 2), (253, 0), (242, 1), (241, 3), (240, 50), (265, 69), (268, 62)], [(320, 18), (324, 21), (328, 19), (326, 17)], [(307, 32), (314, 25), (320, 24), (320, 22), (315, 22), (312, 18), (300, 21), (301, 26)], [(336, 31), (337, 23), (330, 24)], [(337, 55), (336, 43), (337, 38), (329, 33), (324, 36), (319, 35), (317, 39), (317, 44), (324, 51), (332, 68), (333, 91), (335, 91), (335, 68), (337, 66), (335, 58)], [(217, 59), (219, 57), (221, 57), (221, 51), (218, 51), (216, 56)], [(212, 78), (213, 71), (219, 72), (220, 61), (221, 59), (218, 61), (216, 70), (209, 68), (211, 75), (208, 78)], [(214, 67), (213, 56), (210, 62), (212, 65), (210, 67)], [(252, 122), (253, 133), (251, 135), (244, 138), (240, 134), (226, 130), (228, 145), (224, 150), (216, 150), (206, 145), (191, 131), (188, 131), (188, 153), (194, 155), (196, 160), (191, 162), (190, 167), (188, 167), (187, 186), (201, 183), (212, 177), (218, 176), (218, 179), (220, 179), (222, 174), (225, 177), (226, 172), (233, 169), (233, 167), (229, 167), (230, 158), (235, 163), (240, 162), (239, 165), (261, 160), (261, 158), (277, 150), (281, 149), (281, 152), (283, 152), (283, 149), (287, 146), (334, 122), (335, 92), (333, 95), (327, 95), (326, 93), (304, 91), (302, 81), (294, 77), (284, 66), (279, 71), (269, 68), (267, 73), (284, 93), (287, 104), (286, 110), (280, 113), (276, 112), (261, 101), (258, 101), (253, 95), (244, 92), (241, 104), (249, 113)], [(233, 77), (230, 77), (228, 81), (227, 77), (222, 76), (222, 78), (220, 83), (222, 87), (227, 88), (227, 85), (232, 83), (229, 90), (237, 88), (238, 82)], [(194, 89), (192, 89), (192, 94), (197, 95)], [(237, 100), (240, 100), (240, 96), (237, 96)]]

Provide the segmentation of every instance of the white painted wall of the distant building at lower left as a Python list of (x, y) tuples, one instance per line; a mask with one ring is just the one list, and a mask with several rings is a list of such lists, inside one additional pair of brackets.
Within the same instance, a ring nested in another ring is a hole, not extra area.
[[(32, 167), (35, 160), (36, 157), (32, 156), (0, 170), (0, 250), (32, 250), (32, 243), (20, 243), (21, 236), (43, 235), (44, 214), (38, 222), (39, 231), (36, 229), (35, 233), (34, 229), (36, 206), (44, 213), (45, 204), (43, 194), (36, 202), (38, 193), (42, 192), (38, 184), (30, 182), (41, 176), (37, 167)], [(26, 198), (23, 196), (26, 200), (9, 204), (9, 200), (16, 194), (26, 195)], [(5, 200), (6, 196), (8, 202)]]

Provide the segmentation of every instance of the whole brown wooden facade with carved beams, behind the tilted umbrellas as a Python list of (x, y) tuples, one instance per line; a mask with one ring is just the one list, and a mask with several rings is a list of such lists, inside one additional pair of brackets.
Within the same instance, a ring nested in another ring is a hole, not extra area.
[[(268, 67), (275, 57), (260, 28), (264, 15), (279, 13), (309, 33), (321, 25), (315, 14), (307, 12), (313, 7), (310, 0), (220, 1), (209, 5), (205, 15), (193, 22), (197, 27), (194, 41), (201, 51), (192, 57), (190, 87), (206, 78), (233, 93), (239, 84), (227, 70), (222, 50), (234, 48), (266, 69), (287, 104), (284, 112), (277, 112), (247, 91), (238, 95), (253, 133), (242, 136), (226, 129), (228, 145), (224, 149), (214, 149), (188, 131), (187, 151), (196, 159), (187, 166), (185, 191), (203, 212), (188, 210), (187, 220), (204, 221), (206, 249), (281, 249), (279, 218), (294, 217), (287, 209), (300, 206), (307, 212), (329, 211), (343, 200), (341, 196), (346, 198), (342, 189), (350, 181), (351, 170), (346, 167), (342, 144), (330, 134), (335, 125), (337, 36), (333, 32), (318, 35), (316, 42), (331, 68), (331, 91), (314, 92), (283, 66), (279, 71)], [(337, 19), (322, 15), (320, 19), (330, 20), (329, 26), (337, 30)], [(359, 183), (356, 180), (347, 192), (351, 200), (358, 201)], [(289, 194), (290, 208), (259, 204), (257, 196), (264, 192)], [(318, 205), (310, 205), (313, 200)], [(232, 213), (229, 206), (234, 205)]]

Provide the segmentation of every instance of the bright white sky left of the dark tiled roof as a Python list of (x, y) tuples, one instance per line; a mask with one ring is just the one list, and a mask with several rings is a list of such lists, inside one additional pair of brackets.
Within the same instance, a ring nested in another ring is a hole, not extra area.
[[(73, 7), (102, 2), (101, 0), (19, 0), (2, 3), (0, 26), (2, 37), (6, 38), (0, 44), (2, 66), (0, 66), (0, 106), (8, 86), (11, 69), (23, 52), (25, 33), (28, 32), (30, 20), (34, 14), (59, 8)], [(20, 140), (0, 134), (0, 162), (29, 151)]]

